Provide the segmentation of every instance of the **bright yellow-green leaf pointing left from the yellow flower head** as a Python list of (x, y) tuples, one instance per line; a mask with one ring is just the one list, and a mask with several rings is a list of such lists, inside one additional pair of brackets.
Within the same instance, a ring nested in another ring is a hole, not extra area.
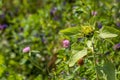
[(60, 33), (64, 34), (64, 35), (75, 35), (77, 33), (80, 32), (80, 28), (79, 27), (70, 27), (64, 30), (61, 30)]

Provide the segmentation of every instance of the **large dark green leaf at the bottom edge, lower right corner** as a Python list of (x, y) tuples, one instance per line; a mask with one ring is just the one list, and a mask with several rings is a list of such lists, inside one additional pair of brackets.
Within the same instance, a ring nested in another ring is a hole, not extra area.
[(107, 76), (107, 80), (115, 80), (115, 68), (113, 63), (106, 61), (103, 66), (103, 71)]

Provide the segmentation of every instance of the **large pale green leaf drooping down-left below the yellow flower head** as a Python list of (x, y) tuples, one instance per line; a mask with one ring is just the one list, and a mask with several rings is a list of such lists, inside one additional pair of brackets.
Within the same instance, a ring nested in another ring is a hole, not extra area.
[(74, 64), (82, 57), (84, 57), (85, 55), (87, 55), (87, 49), (81, 50), (81, 51), (75, 51), (76, 53), (73, 53), (73, 57), (70, 59), (69, 61), (69, 67), (74, 66)]

